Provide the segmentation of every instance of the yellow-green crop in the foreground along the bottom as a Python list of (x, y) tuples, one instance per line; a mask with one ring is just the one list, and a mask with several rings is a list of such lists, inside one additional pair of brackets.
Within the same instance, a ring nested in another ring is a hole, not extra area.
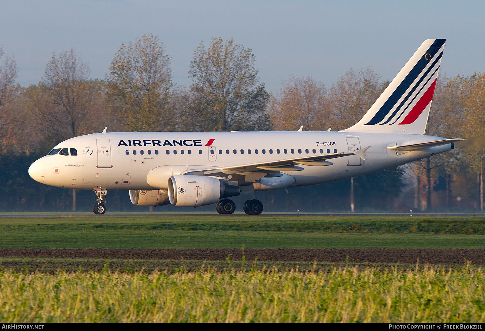
[[(229, 263), (230, 264), (230, 263)], [(246, 266), (251, 268), (251, 266)], [(0, 272), (4, 322), (484, 322), (485, 272)]]

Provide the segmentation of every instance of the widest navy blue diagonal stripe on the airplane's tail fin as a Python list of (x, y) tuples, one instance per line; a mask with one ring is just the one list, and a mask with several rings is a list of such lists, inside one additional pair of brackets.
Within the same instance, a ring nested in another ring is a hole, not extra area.
[(429, 60), (431, 60), (436, 55), (436, 53), (441, 49), (441, 46), (444, 45), (444, 43), (444, 39), (435, 40), (435, 42), (426, 51), (426, 54), (430, 54), (430, 59), (422, 57), (420, 60), (418, 60), (418, 63), (416, 63), (416, 65), (413, 67), (413, 69), (411, 69), (409, 74), (406, 75), (401, 84), (399, 84), (398, 88), (394, 90), (388, 100), (386, 100), (384, 105), (382, 105), (382, 107), (374, 115), (372, 120), (364, 125), (373, 125), (384, 120), (386, 115), (388, 115), (388, 113), (391, 111), (392, 107), (396, 105), (396, 103), (399, 101), (399, 99), (401, 99), (405, 91), (409, 89), (411, 84), (423, 72), (424, 68), (426, 68), (426, 66), (429, 64)]

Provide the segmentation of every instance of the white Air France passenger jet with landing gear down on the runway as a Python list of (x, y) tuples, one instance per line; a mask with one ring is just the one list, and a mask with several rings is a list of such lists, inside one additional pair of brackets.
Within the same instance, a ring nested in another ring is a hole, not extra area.
[(47, 185), (93, 190), (95, 214), (107, 190), (127, 190), (137, 206), (216, 204), (231, 196), (258, 215), (254, 192), (356, 177), (453, 150), (460, 138), (424, 135), (445, 39), (422, 43), (367, 113), (331, 132), (116, 132), (67, 139), (35, 161), (29, 175)]

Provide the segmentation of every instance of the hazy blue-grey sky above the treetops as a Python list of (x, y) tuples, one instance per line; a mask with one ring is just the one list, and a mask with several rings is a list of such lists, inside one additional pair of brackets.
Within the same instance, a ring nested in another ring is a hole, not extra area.
[(147, 33), (170, 53), (172, 81), (189, 86), (201, 41), (234, 38), (256, 56), (261, 82), (278, 91), (291, 75), (330, 86), (350, 68), (392, 79), (425, 39), (446, 38), (441, 74), (485, 65), (485, 1), (11, 1), (0, 0), (0, 45), (17, 82), (37, 84), (53, 51), (74, 47), (104, 78), (122, 43)]

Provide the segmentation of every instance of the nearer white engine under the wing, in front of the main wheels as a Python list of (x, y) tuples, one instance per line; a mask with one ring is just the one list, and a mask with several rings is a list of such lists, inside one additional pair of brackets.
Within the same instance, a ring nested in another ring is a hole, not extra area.
[(239, 186), (210, 176), (176, 175), (168, 179), (168, 198), (178, 207), (211, 205), (219, 199), (239, 196)]

